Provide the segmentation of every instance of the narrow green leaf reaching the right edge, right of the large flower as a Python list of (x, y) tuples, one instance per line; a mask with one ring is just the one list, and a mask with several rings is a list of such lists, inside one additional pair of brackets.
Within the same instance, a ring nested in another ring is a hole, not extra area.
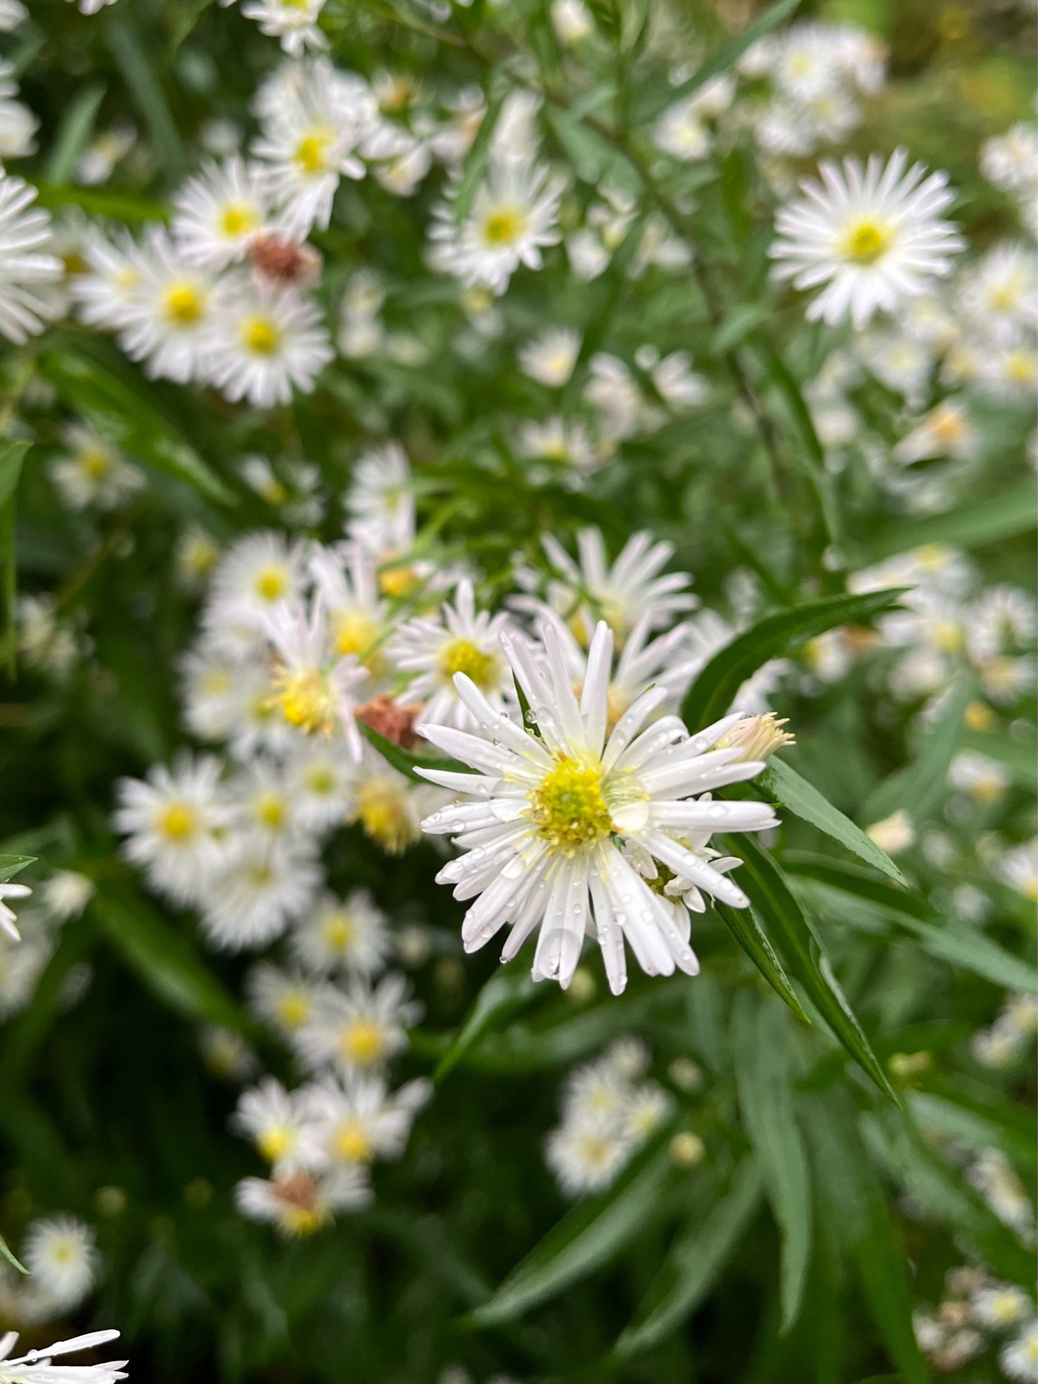
[(873, 904), (890, 923), (918, 938), (923, 951), (938, 960), (972, 970), (1008, 990), (1035, 990), (1038, 977), (1032, 966), (967, 923), (936, 922), (937, 915), (918, 894), (876, 879), (858, 865), (829, 857), (790, 851), (785, 864), (790, 875), (818, 880), (829, 889)]

